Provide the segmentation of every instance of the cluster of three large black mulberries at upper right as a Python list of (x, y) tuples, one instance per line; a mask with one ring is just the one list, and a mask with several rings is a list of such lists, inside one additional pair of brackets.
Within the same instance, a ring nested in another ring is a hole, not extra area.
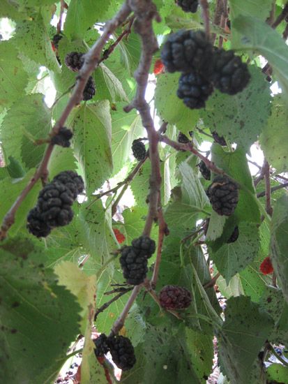
[[(183, 0), (181, 4), (188, 2), (196, 3)], [(171, 34), (163, 45), (161, 58), (167, 72), (182, 73), (177, 96), (191, 109), (204, 108), (213, 87), (235, 95), (250, 80), (247, 64), (232, 50), (213, 47), (203, 31), (181, 30)]]

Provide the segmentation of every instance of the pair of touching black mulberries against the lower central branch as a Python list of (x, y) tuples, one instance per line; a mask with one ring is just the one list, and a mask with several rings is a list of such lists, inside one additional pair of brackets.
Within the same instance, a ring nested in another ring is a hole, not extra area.
[(132, 240), (130, 246), (121, 249), (120, 264), (128, 284), (137, 286), (143, 283), (148, 272), (147, 259), (155, 252), (156, 244), (148, 236)]

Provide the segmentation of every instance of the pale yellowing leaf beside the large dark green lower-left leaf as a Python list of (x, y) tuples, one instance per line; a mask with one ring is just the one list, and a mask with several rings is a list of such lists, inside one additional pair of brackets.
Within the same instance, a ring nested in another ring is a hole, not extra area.
[(59, 285), (65, 286), (77, 297), (77, 302), (82, 308), (79, 313), (82, 318), (81, 333), (85, 334), (91, 308), (95, 305), (96, 275), (86, 276), (77, 264), (69, 261), (56, 265), (54, 272), (59, 277)]

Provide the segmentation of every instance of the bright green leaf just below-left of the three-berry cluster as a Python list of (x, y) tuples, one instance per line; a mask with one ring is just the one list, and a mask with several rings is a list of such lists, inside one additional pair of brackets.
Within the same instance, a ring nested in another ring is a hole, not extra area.
[(179, 131), (191, 131), (199, 119), (197, 110), (190, 110), (183, 101), (176, 96), (179, 73), (165, 73), (158, 76), (155, 91), (155, 106), (158, 115), (170, 124), (175, 124)]

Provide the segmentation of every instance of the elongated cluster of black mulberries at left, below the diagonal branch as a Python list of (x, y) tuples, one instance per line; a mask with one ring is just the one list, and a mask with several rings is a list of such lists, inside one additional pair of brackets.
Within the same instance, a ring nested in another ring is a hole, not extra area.
[(73, 219), (73, 202), (83, 190), (83, 179), (77, 173), (68, 170), (56, 175), (40, 191), (36, 207), (27, 216), (29, 232), (47, 237), (53, 228), (67, 226)]

